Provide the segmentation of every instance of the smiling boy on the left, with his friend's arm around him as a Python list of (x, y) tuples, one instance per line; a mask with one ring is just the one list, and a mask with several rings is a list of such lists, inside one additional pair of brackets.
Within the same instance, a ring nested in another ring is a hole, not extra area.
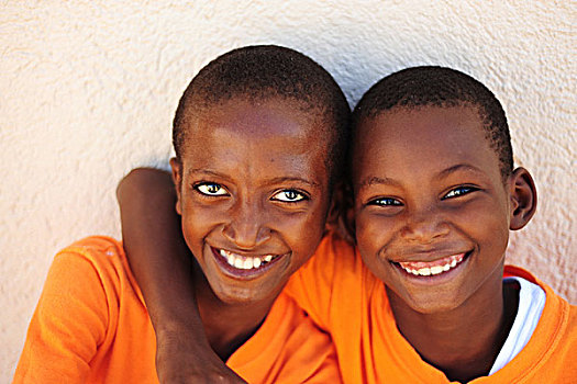
[[(321, 66), (278, 46), (220, 56), (180, 99), (170, 166), (196, 258), (195, 284), (180, 289), (185, 305), (198, 302), (208, 348), (252, 383), (341, 380), (330, 338), (280, 291), (324, 233), (348, 113)], [(155, 383), (155, 349), (122, 244), (89, 237), (56, 256), (14, 382)], [(160, 379), (182, 376), (170, 374)]]

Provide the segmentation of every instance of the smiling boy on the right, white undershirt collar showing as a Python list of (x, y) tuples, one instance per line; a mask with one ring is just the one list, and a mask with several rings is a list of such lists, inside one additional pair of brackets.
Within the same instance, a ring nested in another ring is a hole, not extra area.
[(331, 334), (343, 380), (576, 382), (577, 308), (504, 267), (536, 192), (495, 95), (409, 68), (365, 93), (354, 127), (357, 249), (326, 236), (287, 285)]

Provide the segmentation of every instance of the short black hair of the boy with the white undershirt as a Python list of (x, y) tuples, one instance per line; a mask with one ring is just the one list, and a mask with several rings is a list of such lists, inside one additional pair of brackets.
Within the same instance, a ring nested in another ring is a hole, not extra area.
[(419, 106), (477, 108), (491, 148), (497, 153), (503, 181), (513, 170), (511, 136), (503, 108), (481, 82), (456, 69), (421, 66), (402, 69), (375, 83), (353, 112), (357, 126), (366, 117), (376, 117), (395, 108)]

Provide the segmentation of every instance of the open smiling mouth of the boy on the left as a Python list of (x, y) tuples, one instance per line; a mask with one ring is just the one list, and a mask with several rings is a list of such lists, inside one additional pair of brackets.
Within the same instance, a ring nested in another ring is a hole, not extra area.
[(211, 249), (215, 259), (229, 273), (244, 276), (259, 274), (268, 270), (277, 260), (281, 259), (282, 256), (288, 255), (259, 255), (251, 257), (234, 253), (225, 249), (213, 247), (211, 247)]

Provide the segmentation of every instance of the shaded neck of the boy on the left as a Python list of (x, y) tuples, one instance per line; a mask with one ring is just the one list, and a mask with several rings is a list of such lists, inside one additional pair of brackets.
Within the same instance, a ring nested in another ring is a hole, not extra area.
[(198, 264), (195, 268), (195, 290), (204, 332), (212, 349), (223, 361), (256, 332), (274, 303), (274, 298), (255, 303), (222, 302)]

